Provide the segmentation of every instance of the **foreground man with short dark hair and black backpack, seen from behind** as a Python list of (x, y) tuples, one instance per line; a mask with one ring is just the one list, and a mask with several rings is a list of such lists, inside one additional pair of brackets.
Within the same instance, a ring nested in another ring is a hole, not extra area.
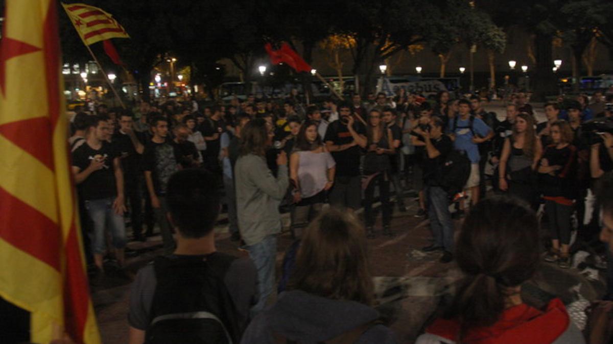
[[(205, 170), (183, 170), (168, 181), (177, 250), (137, 274), (129, 305), (130, 343), (143, 343), (155, 334), (167, 343), (226, 343), (223, 330), (232, 342), (240, 342), (257, 297), (257, 271), (248, 257), (216, 250), (218, 190), (218, 178)], [(191, 326), (197, 322), (200, 326)], [(196, 327), (220, 331), (190, 331)]]

